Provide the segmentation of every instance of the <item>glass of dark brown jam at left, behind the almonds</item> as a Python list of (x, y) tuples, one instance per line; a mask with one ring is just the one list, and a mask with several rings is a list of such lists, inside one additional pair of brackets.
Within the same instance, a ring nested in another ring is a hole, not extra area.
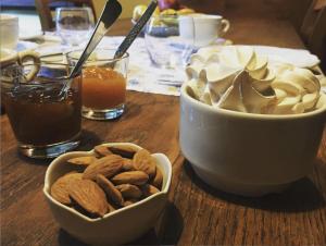
[(1, 97), (20, 152), (53, 158), (79, 144), (82, 76), (66, 79), (63, 76), (70, 74), (71, 66), (40, 63), (36, 76), (26, 81), (25, 74), (33, 67), (10, 67), (16, 70), (10, 81), (1, 74)]

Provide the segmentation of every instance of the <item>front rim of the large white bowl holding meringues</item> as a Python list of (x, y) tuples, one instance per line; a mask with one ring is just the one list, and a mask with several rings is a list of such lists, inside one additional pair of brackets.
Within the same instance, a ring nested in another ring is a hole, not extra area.
[[(184, 98), (189, 104), (192, 104), (201, 110), (209, 111), (210, 113), (223, 114), (225, 116), (233, 116), (238, 119), (252, 119), (252, 120), (262, 120), (262, 121), (283, 121), (283, 120), (299, 120), (315, 116), (322, 113), (326, 113), (326, 95), (321, 91), (321, 99), (323, 100), (323, 106), (316, 110), (305, 112), (305, 113), (297, 113), (297, 114), (259, 114), (259, 113), (247, 113), (233, 111), (227, 109), (214, 108), (212, 106), (205, 104), (195, 98), (192, 98), (188, 93), (187, 88), (189, 87), (189, 83), (185, 82), (180, 88), (180, 98)], [(319, 99), (319, 100), (321, 100)]]

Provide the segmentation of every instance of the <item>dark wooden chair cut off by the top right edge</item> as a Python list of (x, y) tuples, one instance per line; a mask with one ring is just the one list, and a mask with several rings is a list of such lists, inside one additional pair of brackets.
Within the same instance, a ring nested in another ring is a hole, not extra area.
[(326, 0), (312, 1), (299, 33), (309, 50), (321, 59), (326, 72)]

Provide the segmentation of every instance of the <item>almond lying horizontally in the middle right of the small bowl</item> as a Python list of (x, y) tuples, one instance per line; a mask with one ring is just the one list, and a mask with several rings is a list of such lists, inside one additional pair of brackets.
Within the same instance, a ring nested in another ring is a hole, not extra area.
[(116, 184), (134, 184), (142, 185), (148, 181), (148, 175), (142, 171), (129, 171), (120, 173), (111, 179), (111, 181)]

